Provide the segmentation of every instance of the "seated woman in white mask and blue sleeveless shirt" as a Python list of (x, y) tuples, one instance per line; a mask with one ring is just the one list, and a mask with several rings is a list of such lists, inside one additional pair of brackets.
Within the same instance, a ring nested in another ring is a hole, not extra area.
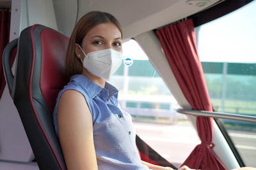
[(122, 64), (122, 34), (115, 17), (92, 11), (70, 37), (70, 82), (58, 94), (53, 113), (68, 170), (171, 169), (140, 160), (131, 115), (118, 107), (118, 90), (106, 82)]

